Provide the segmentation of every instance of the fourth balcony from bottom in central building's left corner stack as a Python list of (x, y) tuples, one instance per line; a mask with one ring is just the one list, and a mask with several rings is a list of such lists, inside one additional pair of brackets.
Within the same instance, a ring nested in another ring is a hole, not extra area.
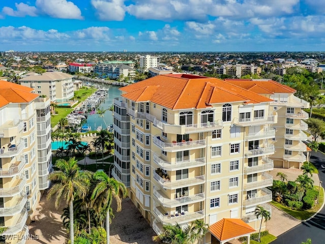
[(161, 168), (168, 171), (179, 170), (183, 168), (194, 168), (205, 165), (205, 158), (168, 162), (159, 158), (156, 154), (153, 154), (153, 161), (158, 164)]

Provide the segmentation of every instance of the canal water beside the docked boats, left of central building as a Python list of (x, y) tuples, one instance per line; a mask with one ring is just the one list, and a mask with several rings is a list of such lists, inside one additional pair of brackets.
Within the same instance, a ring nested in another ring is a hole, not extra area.
[[(100, 109), (108, 109), (113, 104), (113, 99), (119, 97), (122, 92), (119, 90), (121, 86), (118, 85), (109, 85), (102, 83), (93, 83), (94, 85), (100, 85), (100, 87), (108, 88), (108, 96), (106, 96), (106, 100), (100, 104)], [(104, 117), (100, 117), (97, 113), (89, 114), (87, 117), (87, 124), (91, 127), (91, 130), (96, 130), (99, 126), (102, 126), (103, 129), (106, 129), (104, 120), (109, 127), (113, 124), (113, 111), (107, 110), (104, 114)]]

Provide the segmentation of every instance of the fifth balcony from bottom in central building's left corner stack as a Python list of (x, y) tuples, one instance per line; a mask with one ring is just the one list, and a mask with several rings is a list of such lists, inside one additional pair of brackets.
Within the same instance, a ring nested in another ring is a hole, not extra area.
[(156, 144), (161, 150), (171, 152), (204, 148), (206, 146), (205, 140), (192, 141), (189, 139), (189, 141), (174, 141), (173, 143), (166, 143), (164, 141), (161, 141), (160, 136), (154, 136), (153, 143)]

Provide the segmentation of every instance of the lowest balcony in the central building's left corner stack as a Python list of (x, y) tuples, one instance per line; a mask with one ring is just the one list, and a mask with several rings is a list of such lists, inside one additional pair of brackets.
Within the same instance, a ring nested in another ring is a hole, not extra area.
[(185, 224), (187, 222), (191, 222), (193, 220), (198, 220), (204, 218), (204, 211), (197, 212), (183, 212), (183, 214), (179, 214), (178, 216), (169, 214), (168, 212), (164, 212), (164, 209), (161, 207), (153, 207), (154, 214), (158, 217), (158, 219), (163, 222), (164, 225), (171, 224)]

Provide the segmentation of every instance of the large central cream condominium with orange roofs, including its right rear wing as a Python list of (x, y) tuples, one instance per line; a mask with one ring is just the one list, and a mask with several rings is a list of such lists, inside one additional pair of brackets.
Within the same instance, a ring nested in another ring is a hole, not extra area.
[(304, 161), (308, 103), (274, 81), (239, 81), (170, 74), (120, 88), (112, 175), (157, 233), (196, 219), (238, 218), (258, 229), (255, 207), (271, 210), (273, 160)]

